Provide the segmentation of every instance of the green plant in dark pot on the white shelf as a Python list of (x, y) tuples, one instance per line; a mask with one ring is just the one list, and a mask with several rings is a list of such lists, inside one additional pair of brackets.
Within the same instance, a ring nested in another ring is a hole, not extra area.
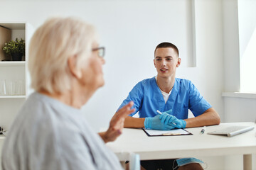
[(16, 38), (16, 40), (6, 42), (3, 50), (7, 55), (11, 55), (13, 61), (21, 61), (21, 57), (25, 54), (25, 40)]

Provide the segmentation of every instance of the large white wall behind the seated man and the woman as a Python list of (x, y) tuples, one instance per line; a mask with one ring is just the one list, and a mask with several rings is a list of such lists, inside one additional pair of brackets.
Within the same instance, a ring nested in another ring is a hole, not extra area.
[(190, 7), (186, 0), (1, 1), (0, 21), (28, 21), (37, 28), (49, 16), (78, 16), (96, 26), (100, 44), (107, 48), (105, 86), (83, 111), (97, 131), (107, 127), (138, 81), (156, 75), (154, 47), (162, 41), (179, 47), (183, 67), (177, 77), (191, 79), (223, 117), (221, 1), (196, 1), (197, 67), (189, 67), (193, 66)]

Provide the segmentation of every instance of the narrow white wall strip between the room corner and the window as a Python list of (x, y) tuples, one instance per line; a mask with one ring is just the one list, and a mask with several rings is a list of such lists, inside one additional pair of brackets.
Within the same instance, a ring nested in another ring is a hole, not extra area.
[(224, 91), (240, 91), (238, 1), (223, 1)]

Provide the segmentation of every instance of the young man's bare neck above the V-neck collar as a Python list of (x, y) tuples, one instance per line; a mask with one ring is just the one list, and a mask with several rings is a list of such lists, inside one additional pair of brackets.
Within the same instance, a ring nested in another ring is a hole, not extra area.
[(159, 77), (157, 76), (156, 83), (161, 91), (169, 94), (171, 89), (174, 87), (175, 77)]

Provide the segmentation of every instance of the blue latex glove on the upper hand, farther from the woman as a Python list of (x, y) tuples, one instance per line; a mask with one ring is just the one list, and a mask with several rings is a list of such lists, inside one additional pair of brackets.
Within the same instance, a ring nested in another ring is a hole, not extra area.
[(172, 110), (163, 112), (160, 115), (161, 123), (165, 125), (173, 125), (175, 128), (186, 128), (186, 121), (176, 118), (174, 115), (170, 115)]

